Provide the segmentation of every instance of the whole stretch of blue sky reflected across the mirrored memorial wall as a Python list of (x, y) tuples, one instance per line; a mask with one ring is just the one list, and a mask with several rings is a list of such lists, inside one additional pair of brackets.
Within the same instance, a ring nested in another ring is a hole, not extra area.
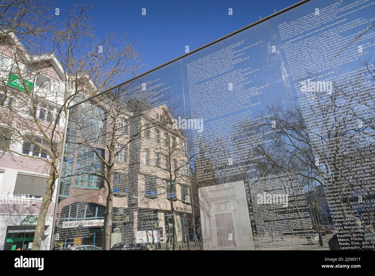
[[(120, 92), (120, 101), (127, 101), (132, 97), (144, 97), (144, 91), (147, 91), (148, 106), (165, 103), (173, 109), (174, 118), (185, 118), (186, 111), (186, 118), (202, 119), (203, 132), (189, 131), (195, 142), (199, 141), (199, 137), (211, 139), (220, 133), (230, 136), (236, 124), (264, 116), (262, 112), (275, 102), (281, 102), (283, 108), (289, 107), (288, 96), (291, 100), (297, 97), (298, 83), (306, 79), (307, 74), (325, 74), (317, 80), (332, 79), (358, 69), (361, 57), (372, 54), (367, 46), (368, 42), (374, 42), (374, 38), (369, 36), (375, 30), (371, 29), (374, 21), (371, 21), (371, 8), (352, 12), (365, 4), (348, 7), (350, 3), (304, 3), (108, 93)], [(340, 11), (345, 6), (348, 9)], [(317, 16), (327, 20), (320, 23)], [(347, 38), (348, 42), (343, 38)], [(331, 48), (315, 42), (324, 39)], [(337, 45), (339, 47), (335, 48)], [(355, 59), (352, 62), (327, 65), (329, 60), (334, 62), (350, 51), (357, 51), (359, 45), (364, 45), (363, 53), (352, 54)], [(305, 56), (305, 60), (293, 60), (300, 56)], [(228, 89), (229, 86), (232, 89)], [(306, 93), (306, 97), (307, 103), (316, 104), (314, 95)], [(90, 116), (86, 118), (92, 120)], [(228, 145), (228, 149), (233, 149), (233, 146)]]

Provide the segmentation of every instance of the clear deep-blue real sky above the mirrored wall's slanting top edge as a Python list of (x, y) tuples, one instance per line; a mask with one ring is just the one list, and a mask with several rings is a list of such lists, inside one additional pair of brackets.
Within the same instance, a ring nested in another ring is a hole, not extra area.
[[(299, 0), (253, 1), (83, 1), (93, 5), (90, 15), (96, 18), (98, 36), (105, 33), (127, 33), (129, 41), (139, 38), (144, 72), (168, 62), (185, 52), (251, 24), (261, 16), (272, 14)], [(81, 2), (57, 0), (55, 6), (63, 12)], [(141, 15), (142, 8), (146, 15)], [(228, 15), (228, 9), (233, 15)]]

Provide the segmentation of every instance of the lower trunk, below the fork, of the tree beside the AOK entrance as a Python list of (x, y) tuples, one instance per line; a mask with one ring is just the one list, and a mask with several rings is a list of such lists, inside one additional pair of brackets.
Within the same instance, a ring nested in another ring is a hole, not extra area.
[[(55, 166), (51, 166), (49, 170), (49, 177), (47, 180), (47, 187), (46, 192), (42, 198), (42, 204), (40, 205), (38, 221), (36, 223), (35, 234), (33, 245), (31, 246), (31, 250), (40, 250), (40, 245), (42, 244), (42, 238), (44, 233), (44, 227), (46, 222), (46, 216), (49, 204), (52, 202), (53, 192), (55, 190), (55, 181), (58, 178), (58, 173), (55, 169)], [(57, 199), (57, 196), (56, 196)], [(55, 202), (57, 204), (57, 202)], [(52, 222), (52, 227), (54, 227), (54, 222)], [(51, 237), (52, 238), (52, 237)]]

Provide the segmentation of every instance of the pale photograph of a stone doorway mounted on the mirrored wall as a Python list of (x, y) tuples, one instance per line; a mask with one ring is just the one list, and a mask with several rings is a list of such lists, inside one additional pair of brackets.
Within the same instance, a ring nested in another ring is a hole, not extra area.
[(243, 181), (199, 188), (205, 250), (254, 249)]

